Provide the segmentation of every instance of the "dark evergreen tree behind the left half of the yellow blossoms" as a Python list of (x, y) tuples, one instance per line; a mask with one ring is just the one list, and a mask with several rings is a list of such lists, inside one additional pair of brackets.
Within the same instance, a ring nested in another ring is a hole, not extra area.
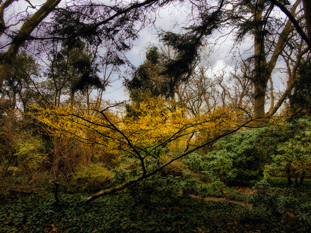
[(57, 45), (55, 47), (49, 54), (50, 63), (45, 81), (47, 90), (43, 93), (51, 92), (53, 104), (59, 106), (61, 97), (67, 95), (73, 101), (74, 94), (81, 91), (89, 104), (91, 89), (104, 89), (107, 85), (98, 76), (100, 70), (96, 57), (86, 46), (61, 47), (59, 51)]

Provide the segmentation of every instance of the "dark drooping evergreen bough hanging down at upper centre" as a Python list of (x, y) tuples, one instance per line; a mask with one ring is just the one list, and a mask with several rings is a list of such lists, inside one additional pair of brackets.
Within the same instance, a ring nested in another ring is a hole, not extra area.
[(174, 59), (165, 59), (164, 69), (160, 73), (166, 77), (166, 82), (161, 86), (161, 90), (167, 93), (167, 97), (172, 96), (175, 87), (180, 82), (187, 81), (193, 74), (199, 58), (202, 39), (218, 28), (221, 15), (220, 9), (213, 12), (203, 9), (200, 15), (201, 22), (186, 28), (185, 34), (166, 32), (162, 35), (162, 41), (176, 52)]

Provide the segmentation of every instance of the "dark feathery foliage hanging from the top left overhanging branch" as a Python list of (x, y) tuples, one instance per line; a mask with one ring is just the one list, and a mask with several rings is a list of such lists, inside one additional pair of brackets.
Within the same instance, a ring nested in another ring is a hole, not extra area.
[[(170, 1), (116, 2), (108, 5), (92, 2), (70, 4), (55, 11), (49, 28), (53, 41), (72, 48), (77, 41), (108, 48), (105, 64), (131, 65), (124, 53), (137, 39), (139, 31), (151, 20), (150, 12)], [(97, 51), (96, 51), (97, 52)]]

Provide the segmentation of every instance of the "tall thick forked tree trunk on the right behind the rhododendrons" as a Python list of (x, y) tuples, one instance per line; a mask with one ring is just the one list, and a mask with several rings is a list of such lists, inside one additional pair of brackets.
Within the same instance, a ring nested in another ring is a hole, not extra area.
[[(291, 7), (290, 14), (294, 18), (296, 16), (299, 16), (299, 11), (297, 11), (299, 3), (300, 1), (295, 2), (295, 4)], [(278, 61), (280, 54), (283, 53), (284, 48), (288, 44), (288, 39), (293, 33), (295, 25), (292, 25), (292, 21), (288, 19), (286, 22), (284, 22), (284, 27), (278, 28), (278, 30), (274, 32), (272, 28), (273, 25), (278, 25), (276, 21), (277, 19), (272, 15), (274, 3), (268, 4), (264, 0), (254, 2), (250, 1), (247, 5), (242, 7), (249, 9), (247, 12), (252, 13), (252, 16), (245, 20), (244, 16), (241, 16), (241, 21), (243, 23), (239, 25), (241, 28), (239, 36), (243, 36), (245, 35), (245, 33), (251, 33), (254, 38), (254, 54), (252, 56), (254, 115), (256, 117), (264, 117), (265, 96), (268, 81), (271, 79), (272, 71), (276, 66), (276, 62)], [(273, 38), (274, 36), (278, 37), (276, 42)], [(271, 41), (274, 43), (271, 43)], [(272, 48), (272, 50), (270, 48)], [(296, 59), (294, 58), (297, 64), (299, 64), (302, 55), (303, 53), (300, 53), (296, 56)], [(295, 66), (292, 69), (295, 70)], [(293, 75), (295, 75), (295, 72), (292, 73)], [(292, 80), (294, 82), (294, 80), (296, 80), (296, 77), (292, 77)], [(289, 84), (291, 84), (291, 82)], [(290, 92), (292, 87), (292, 85), (288, 85), (285, 91), (286, 95)], [(280, 104), (284, 101), (284, 96), (282, 97), (283, 98), (280, 98), (280, 100), (278, 101), (278, 103), (276, 103), (274, 107), (270, 108), (270, 115), (274, 114), (276, 110), (280, 107)]]

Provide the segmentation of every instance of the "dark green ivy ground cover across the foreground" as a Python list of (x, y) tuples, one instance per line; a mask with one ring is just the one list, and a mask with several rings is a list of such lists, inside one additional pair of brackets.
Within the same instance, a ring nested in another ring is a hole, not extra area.
[[(0, 197), (0, 231), (5, 232), (308, 232), (295, 218), (247, 212), (239, 204), (184, 199), (178, 205), (151, 201), (148, 208), (127, 195), (110, 196), (88, 205), (82, 196), (50, 195), (8, 201)], [(246, 215), (247, 213), (247, 215)], [(255, 221), (256, 220), (256, 221)]]

